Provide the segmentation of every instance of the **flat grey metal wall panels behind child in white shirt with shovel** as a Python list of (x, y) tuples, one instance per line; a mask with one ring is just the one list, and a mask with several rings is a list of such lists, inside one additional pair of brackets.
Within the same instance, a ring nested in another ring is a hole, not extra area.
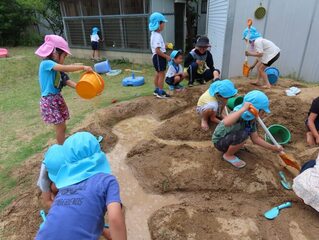
[[(318, 0), (229, 0), (228, 2), (235, 5), (232, 40), (229, 46), (225, 46), (225, 51), (231, 51), (228, 76), (241, 75), (245, 51), (242, 31), (246, 27), (247, 19), (253, 18), (253, 25), (261, 34), (281, 48), (280, 59), (274, 64), (279, 68), (281, 75), (319, 82)], [(267, 9), (267, 15), (257, 20), (254, 19), (254, 11), (260, 2)], [(218, 12), (216, 9), (210, 11), (211, 13), (215, 11), (217, 16), (224, 15), (223, 9)], [(220, 27), (218, 21), (210, 24)], [(250, 58), (250, 62), (253, 60)]]

